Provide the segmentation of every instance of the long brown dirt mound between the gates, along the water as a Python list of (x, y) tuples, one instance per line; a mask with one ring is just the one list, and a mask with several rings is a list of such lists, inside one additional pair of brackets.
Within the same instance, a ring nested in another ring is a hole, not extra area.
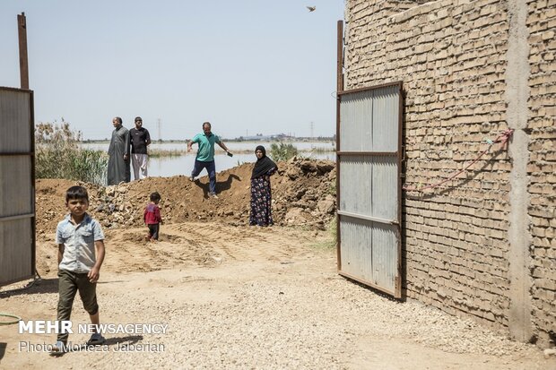
[[(311, 225), (324, 228), (335, 210), (335, 165), (328, 160), (291, 159), (278, 163), (272, 176), (273, 216), (277, 225)], [(208, 176), (195, 183), (187, 176), (148, 177), (113, 186), (83, 184), (70, 180), (38, 179), (37, 234), (56, 230), (66, 213), (65, 190), (84, 185), (90, 196), (89, 212), (104, 228), (143, 226), (143, 209), (149, 194), (162, 197), (163, 223), (219, 220), (247, 225), (250, 176), (253, 164), (243, 164), (217, 175), (218, 199), (208, 196)]]

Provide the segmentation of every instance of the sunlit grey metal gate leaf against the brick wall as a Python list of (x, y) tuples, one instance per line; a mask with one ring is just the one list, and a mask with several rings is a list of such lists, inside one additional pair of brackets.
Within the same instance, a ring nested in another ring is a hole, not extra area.
[(338, 96), (338, 272), (402, 297), (402, 82)]

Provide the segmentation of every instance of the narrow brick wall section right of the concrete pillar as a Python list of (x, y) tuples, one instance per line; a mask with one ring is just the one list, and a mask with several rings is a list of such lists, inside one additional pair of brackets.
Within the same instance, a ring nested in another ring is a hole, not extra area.
[(540, 339), (556, 332), (556, 0), (527, 1), (533, 318)]

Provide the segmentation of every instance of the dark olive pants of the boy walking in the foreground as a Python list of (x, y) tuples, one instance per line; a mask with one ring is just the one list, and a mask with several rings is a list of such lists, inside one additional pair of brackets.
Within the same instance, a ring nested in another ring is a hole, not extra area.
[[(89, 314), (97, 314), (99, 305), (97, 304), (97, 283), (91, 283), (87, 273), (76, 273), (72, 271), (58, 271), (58, 328), (62, 321), (69, 320), (72, 315), (74, 297), (79, 290), (79, 297), (83, 301), (83, 308)], [(67, 343), (69, 333), (58, 333), (57, 340)]]

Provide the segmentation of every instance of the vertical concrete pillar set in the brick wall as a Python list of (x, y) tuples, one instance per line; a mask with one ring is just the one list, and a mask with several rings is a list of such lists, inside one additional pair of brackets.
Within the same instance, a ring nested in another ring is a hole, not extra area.
[(527, 192), (527, 162), (529, 160), (529, 136), (527, 127), (527, 99), (530, 96), (528, 86), (529, 31), (526, 26), (527, 4), (523, 0), (508, 0), (509, 39), (508, 69), (506, 71), (507, 90), (505, 99), (508, 103), (507, 119), (509, 128), (515, 130), (509, 143), (509, 156), (512, 162), (510, 174), (510, 227), (509, 241), (509, 332), (516, 339), (532, 339), (531, 322), (532, 298), (529, 266), (531, 263), (530, 245), (531, 220), (527, 208), (530, 204)]

